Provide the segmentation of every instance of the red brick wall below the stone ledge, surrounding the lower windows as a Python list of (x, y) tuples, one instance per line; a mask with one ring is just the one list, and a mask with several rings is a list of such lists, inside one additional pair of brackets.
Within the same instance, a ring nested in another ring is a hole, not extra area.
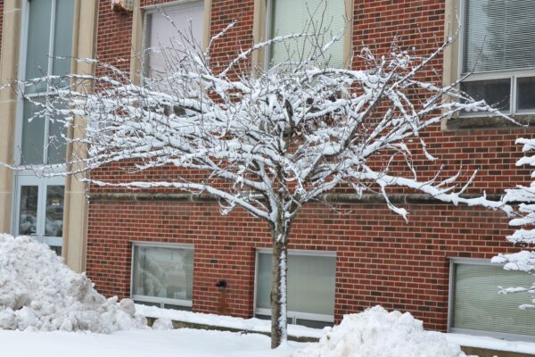
[[(383, 204), (309, 204), (292, 227), (292, 249), (337, 254), (336, 320), (380, 303), (445, 329), (449, 257), (489, 258), (510, 250), (501, 213), (446, 204), (411, 204), (406, 223)], [(339, 213), (342, 212), (342, 213)], [(230, 312), (252, 315), (255, 248), (269, 247), (268, 225), (215, 203), (91, 203), (87, 274), (105, 295), (129, 295), (130, 241), (194, 245), (193, 309), (218, 311), (219, 279)]]

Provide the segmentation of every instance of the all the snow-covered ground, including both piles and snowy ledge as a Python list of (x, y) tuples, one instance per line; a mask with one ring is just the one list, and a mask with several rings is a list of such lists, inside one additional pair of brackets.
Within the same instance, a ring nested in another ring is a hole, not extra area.
[[(153, 317), (153, 328), (144, 317)], [(290, 326), (321, 337), (271, 350), (268, 336), (172, 327), (171, 320), (268, 332), (267, 320), (172, 311), (105, 299), (46, 245), (0, 234), (0, 356), (465, 357), (459, 345), (535, 354), (535, 343), (425, 331), (409, 313), (375, 306), (334, 328)]]

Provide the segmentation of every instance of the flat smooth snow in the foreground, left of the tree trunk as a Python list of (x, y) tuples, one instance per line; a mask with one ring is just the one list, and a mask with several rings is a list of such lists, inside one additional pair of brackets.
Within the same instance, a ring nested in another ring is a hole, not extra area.
[(304, 345), (271, 350), (268, 336), (189, 328), (110, 335), (0, 330), (0, 355), (19, 357), (283, 357)]

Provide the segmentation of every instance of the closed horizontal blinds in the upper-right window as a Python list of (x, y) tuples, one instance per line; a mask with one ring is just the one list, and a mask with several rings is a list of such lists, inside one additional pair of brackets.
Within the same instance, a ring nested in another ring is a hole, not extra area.
[(533, 0), (466, 0), (463, 72), (535, 67)]

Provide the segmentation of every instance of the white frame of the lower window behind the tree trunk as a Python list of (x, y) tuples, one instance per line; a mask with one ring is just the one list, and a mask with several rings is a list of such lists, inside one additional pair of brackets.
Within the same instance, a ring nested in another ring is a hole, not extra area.
[[(259, 277), (259, 254), (261, 253), (273, 253), (272, 249), (269, 248), (257, 248), (255, 252), (255, 260), (254, 260), (254, 294), (253, 294), (253, 313), (256, 316), (258, 315), (266, 315), (271, 316), (271, 309), (263, 309), (263, 308), (257, 308), (256, 302), (257, 302), (257, 285), (258, 285), (258, 277)], [(309, 250), (301, 250), (301, 249), (289, 249), (288, 250), (288, 256), (290, 255), (308, 255), (308, 256), (314, 256), (314, 257), (333, 257), (336, 258), (336, 252), (333, 251), (309, 251)], [(334, 275), (334, 282), (336, 282), (336, 274)], [(336, 288), (334, 290), (336, 294)], [(334, 296), (334, 300), (336, 300), (336, 295)], [(318, 322), (327, 322), (327, 323), (334, 323), (334, 316), (333, 315), (323, 315), (319, 313), (307, 313), (307, 312), (299, 312), (299, 311), (287, 311), (287, 317), (288, 317), (288, 323), (295, 325), (296, 321), (299, 320), (313, 320)]]

